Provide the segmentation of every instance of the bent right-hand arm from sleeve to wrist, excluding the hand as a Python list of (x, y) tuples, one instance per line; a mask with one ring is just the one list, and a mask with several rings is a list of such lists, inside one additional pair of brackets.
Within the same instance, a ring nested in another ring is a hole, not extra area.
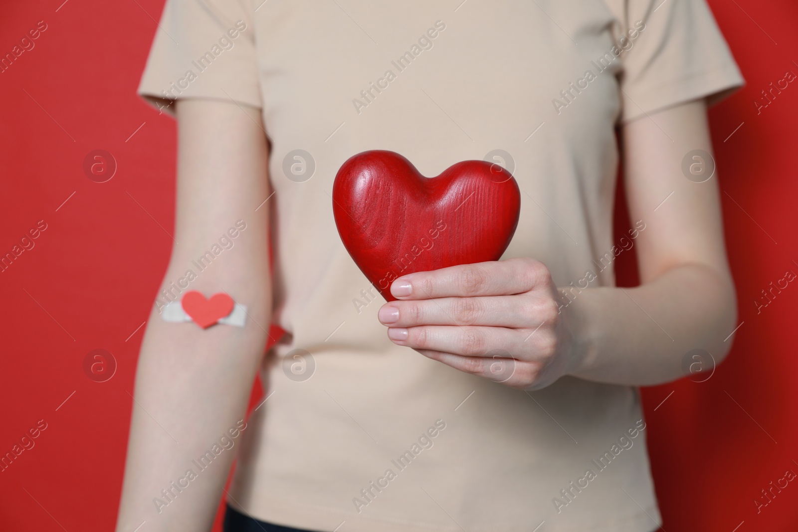
[(574, 301), (590, 345), (574, 374), (660, 384), (684, 375), (691, 349), (721, 362), (737, 321), (717, 172), (694, 183), (681, 171), (688, 152), (713, 152), (704, 100), (626, 124), (622, 145), (630, 216), (646, 223), (635, 241), (641, 286), (590, 290)]

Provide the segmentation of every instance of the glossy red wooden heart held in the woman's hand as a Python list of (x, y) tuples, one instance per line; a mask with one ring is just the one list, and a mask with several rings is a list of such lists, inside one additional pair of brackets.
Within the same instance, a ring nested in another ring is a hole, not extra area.
[(426, 178), (398, 153), (374, 150), (350, 157), (333, 184), (338, 234), (386, 301), (401, 275), (498, 260), (520, 206), (516, 179), (480, 160)]

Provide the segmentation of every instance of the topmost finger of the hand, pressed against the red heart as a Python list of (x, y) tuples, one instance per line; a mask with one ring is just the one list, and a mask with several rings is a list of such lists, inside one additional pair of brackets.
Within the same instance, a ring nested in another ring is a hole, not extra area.
[(499, 296), (547, 286), (551, 274), (533, 258), (479, 262), (404, 275), (391, 284), (397, 299)]

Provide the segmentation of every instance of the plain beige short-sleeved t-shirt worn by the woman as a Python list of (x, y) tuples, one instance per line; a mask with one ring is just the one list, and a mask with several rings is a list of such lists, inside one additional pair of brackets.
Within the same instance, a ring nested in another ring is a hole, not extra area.
[(504, 257), (612, 286), (634, 242), (612, 242), (614, 128), (741, 83), (704, 0), (168, 0), (140, 93), (262, 108), (272, 142), (289, 334), (231, 504), (341, 532), (653, 530), (638, 391), (565, 377), (520, 392), (393, 345), (330, 194), (365, 150), (430, 176), (489, 157), (521, 189)]

